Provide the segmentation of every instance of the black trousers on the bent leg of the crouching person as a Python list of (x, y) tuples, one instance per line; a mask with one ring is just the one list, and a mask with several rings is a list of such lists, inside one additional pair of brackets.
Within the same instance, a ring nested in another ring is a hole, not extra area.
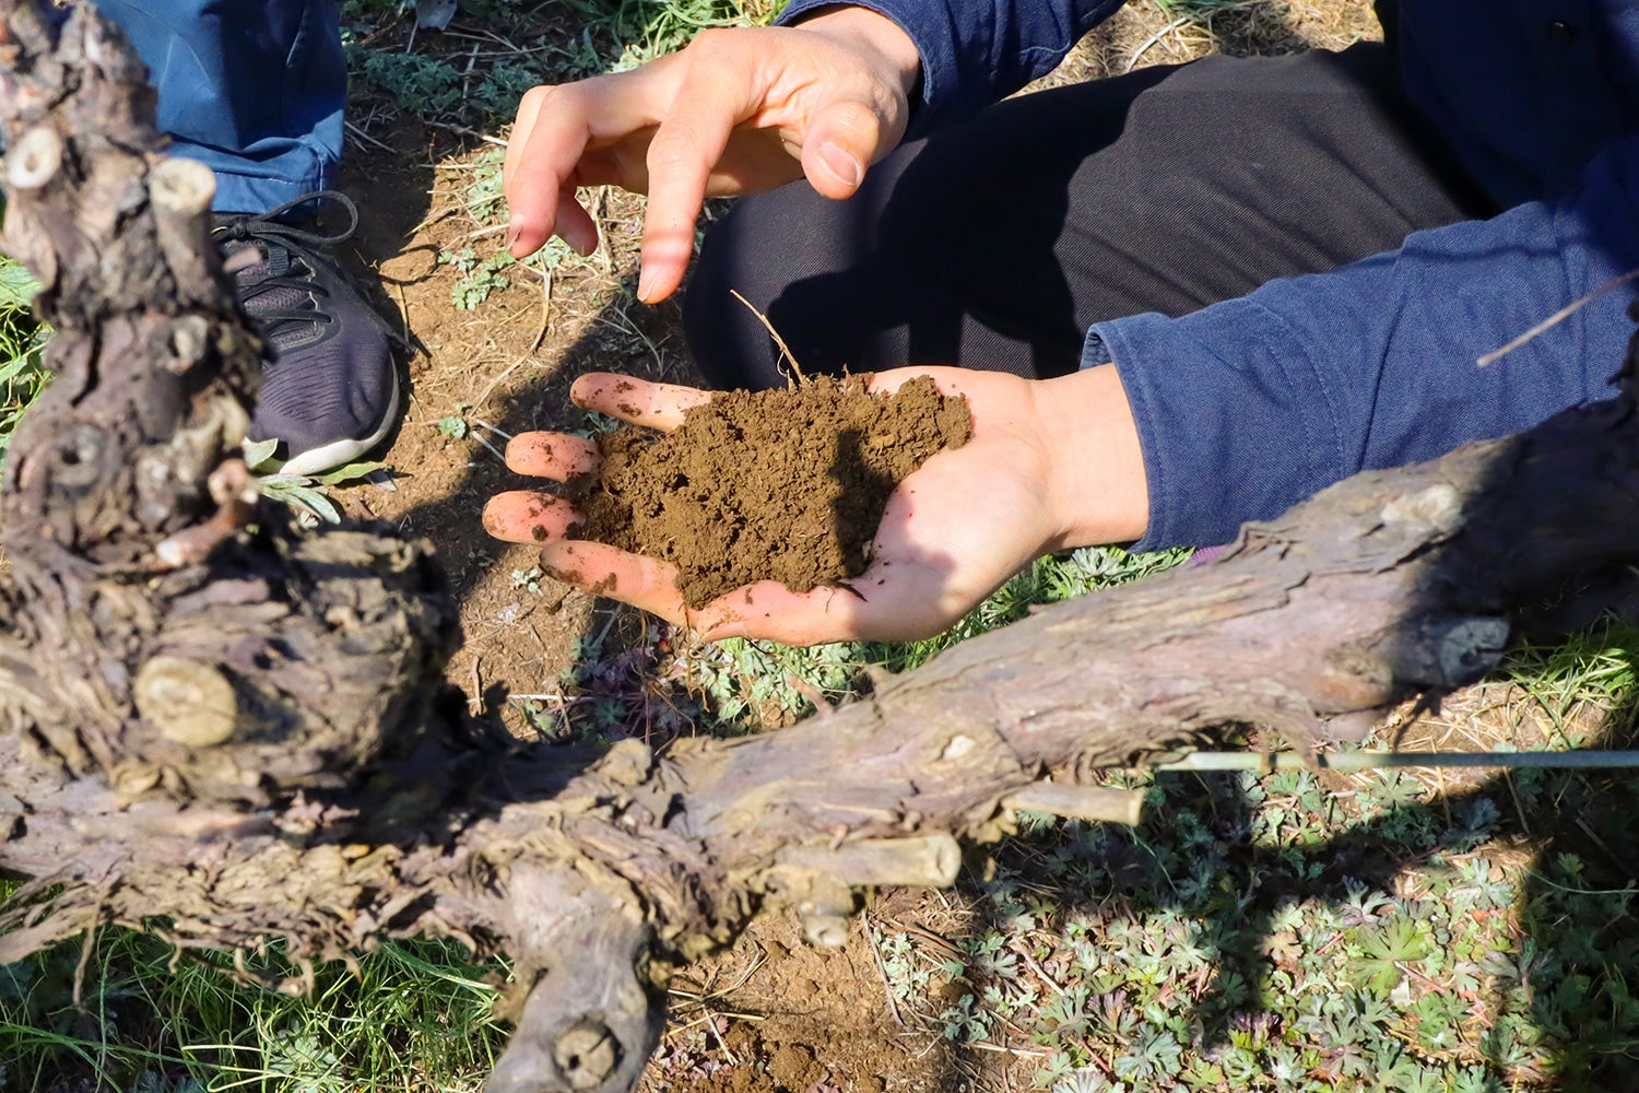
[(1488, 216), (1401, 97), (1385, 46), (1206, 57), (1001, 102), (897, 149), (859, 193), (741, 198), (685, 297), (713, 387), (803, 372), (1077, 367), (1087, 328), (1185, 315), (1265, 280)]

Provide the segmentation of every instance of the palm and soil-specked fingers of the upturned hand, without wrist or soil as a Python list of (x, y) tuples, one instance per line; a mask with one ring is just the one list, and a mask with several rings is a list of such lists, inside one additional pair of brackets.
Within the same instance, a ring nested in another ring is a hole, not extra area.
[[(777, 582), (759, 582), (695, 613), (683, 606), (672, 567), (603, 544), (565, 541), (575, 516), (556, 498), (533, 492), (498, 495), (485, 508), (485, 524), (503, 539), (544, 542), (543, 564), (561, 578), (692, 624), (706, 639), (816, 644), (934, 634), (1056, 546), (1059, 529), (1042, 495), (1049, 456), (1029, 383), (993, 372), (898, 369), (879, 375), (875, 388), (893, 390), (926, 374), (946, 393), (967, 395), (974, 439), (938, 452), (890, 495), (872, 562), (847, 582), (847, 590), (795, 593)], [(656, 428), (674, 428), (683, 408), (706, 398), (703, 392), (621, 377), (585, 377), (582, 383), (582, 405)], [(564, 478), (595, 467), (595, 456), (561, 434), (526, 434), (508, 447), (508, 462), (524, 474)]]

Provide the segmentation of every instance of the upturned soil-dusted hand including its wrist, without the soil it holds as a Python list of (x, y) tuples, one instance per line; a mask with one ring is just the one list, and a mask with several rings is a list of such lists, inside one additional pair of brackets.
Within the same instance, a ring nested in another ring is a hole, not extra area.
[[(484, 526), (498, 539), (541, 542), (549, 575), (688, 626), (706, 641), (765, 637), (792, 646), (928, 637), (1041, 554), (1142, 534), (1142, 460), (1115, 369), (1044, 382), (967, 369), (895, 369), (879, 374), (872, 390), (897, 390), (915, 375), (933, 375), (946, 395), (967, 397), (974, 436), (931, 456), (888, 497), (870, 565), (849, 588), (792, 592), (765, 580), (693, 611), (669, 564), (565, 539), (577, 515), (556, 497), (498, 493), (484, 508)], [(672, 429), (710, 393), (592, 374), (575, 380), (570, 398), (634, 424)], [(1065, 413), (1075, 400), (1075, 413)], [(1082, 428), (1093, 436), (1065, 433)], [(1083, 465), (1088, 447), (1098, 457)], [(506, 446), (506, 465), (562, 482), (595, 474), (600, 457), (592, 441), (524, 433)]]

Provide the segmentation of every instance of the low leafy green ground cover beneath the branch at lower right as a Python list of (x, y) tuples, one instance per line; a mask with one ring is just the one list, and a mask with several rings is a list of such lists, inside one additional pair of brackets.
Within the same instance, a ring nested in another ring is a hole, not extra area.
[[(1500, 783), (1441, 801), (1405, 773), (1362, 782), (1339, 800), (1305, 772), (1157, 775), (1131, 831), (1037, 818), (1003, 847), (969, 888), (962, 960), (879, 936), (898, 973), (929, 972), (918, 991), (959, 983), (933, 1027), (1034, 1052), (1065, 1093), (1631, 1073), (1634, 882), (1575, 850), (1524, 865)], [(1632, 782), (1552, 782), (1601, 824), (1636, 803)]]

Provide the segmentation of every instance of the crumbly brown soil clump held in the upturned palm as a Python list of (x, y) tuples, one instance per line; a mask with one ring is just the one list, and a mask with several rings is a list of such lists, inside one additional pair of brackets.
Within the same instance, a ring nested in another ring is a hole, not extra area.
[(670, 562), (693, 608), (756, 580), (808, 592), (857, 577), (893, 488), (972, 436), (967, 400), (931, 379), (892, 397), (867, 380), (724, 392), (670, 433), (603, 434), (602, 474), (567, 487), (579, 534)]

